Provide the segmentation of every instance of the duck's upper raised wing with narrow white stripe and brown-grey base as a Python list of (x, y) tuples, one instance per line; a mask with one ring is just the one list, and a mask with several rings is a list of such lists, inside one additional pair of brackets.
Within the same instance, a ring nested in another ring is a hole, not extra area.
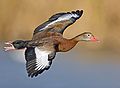
[(48, 21), (39, 25), (35, 30), (34, 34), (42, 31), (58, 32), (63, 34), (64, 30), (83, 14), (83, 10), (72, 11), (67, 13), (57, 13), (49, 18)]

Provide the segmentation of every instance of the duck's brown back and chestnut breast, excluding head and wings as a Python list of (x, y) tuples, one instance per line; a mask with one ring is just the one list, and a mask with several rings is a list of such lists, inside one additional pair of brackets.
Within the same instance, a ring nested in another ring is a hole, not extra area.
[[(38, 33), (33, 36), (33, 39), (28, 42), (27, 47), (31, 46), (39, 46), (39, 45), (48, 45), (48, 46), (55, 46), (56, 52), (66, 52), (72, 49), (76, 44), (77, 40), (73, 39), (66, 39), (60, 33), (49, 32), (46, 33), (46, 37), (40, 37), (41, 33)], [(49, 49), (49, 47), (46, 47)]]

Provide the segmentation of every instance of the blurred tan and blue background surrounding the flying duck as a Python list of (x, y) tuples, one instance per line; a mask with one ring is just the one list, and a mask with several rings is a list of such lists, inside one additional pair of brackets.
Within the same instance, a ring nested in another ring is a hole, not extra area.
[[(0, 88), (120, 88), (119, 0), (0, 0)], [(34, 29), (58, 12), (83, 10), (64, 33), (92, 32), (100, 43), (80, 42), (58, 53), (51, 68), (28, 78), (24, 51), (5, 52), (5, 41), (31, 39)]]

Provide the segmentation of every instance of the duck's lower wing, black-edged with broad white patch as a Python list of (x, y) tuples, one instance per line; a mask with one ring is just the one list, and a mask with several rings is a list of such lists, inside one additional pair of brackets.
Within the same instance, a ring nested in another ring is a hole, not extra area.
[(26, 70), (29, 77), (36, 77), (48, 70), (55, 57), (55, 52), (40, 50), (39, 47), (27, 48), (25, 51)]

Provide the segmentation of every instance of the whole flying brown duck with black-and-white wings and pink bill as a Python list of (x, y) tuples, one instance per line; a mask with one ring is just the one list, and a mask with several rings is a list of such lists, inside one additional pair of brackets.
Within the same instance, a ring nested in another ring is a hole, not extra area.
[(25, 59), (28, 76), (37, 76), (50, 68), (56, 52), (69, 51), (79, 41), (97, 41), (90, 32), (84, 32), (72, 39), (63, 38), (64, 30), (80, 18), (82, 13), (82, 10), (77, 10), (55, 14), (35, 29), (32, 40), (7, 42), (6, 44), (10, 46), (5, 49), (26, 48)]

